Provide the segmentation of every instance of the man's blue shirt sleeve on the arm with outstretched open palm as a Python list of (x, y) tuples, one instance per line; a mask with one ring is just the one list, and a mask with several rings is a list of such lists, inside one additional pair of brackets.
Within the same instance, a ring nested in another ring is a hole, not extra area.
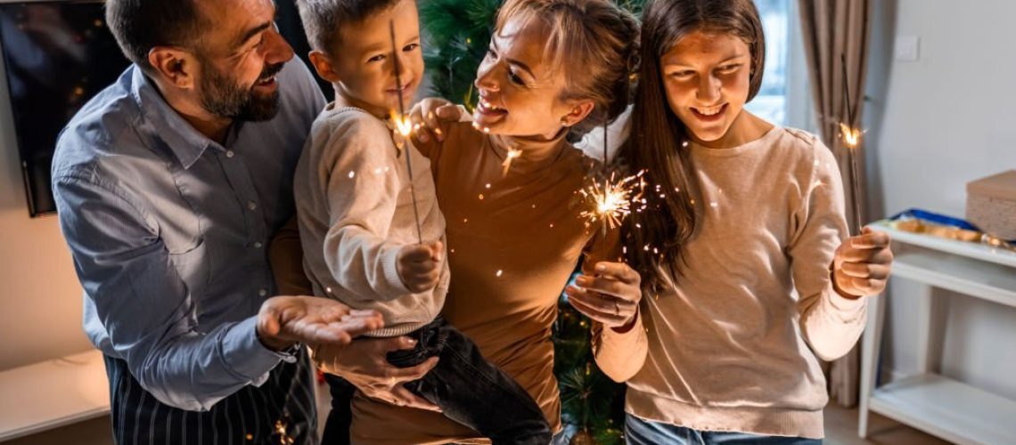
[(160, 227), (126, 193), (93, 172), (54, 179), (60, 226), (85, 297), (116, 354), (160, 401), (207, 411), (246, 385), (262, 384), (280, 359), (257, 339), (256, 316), (199, 332), (176, 262), (203, 261), (203, 246), (171, 254)]

